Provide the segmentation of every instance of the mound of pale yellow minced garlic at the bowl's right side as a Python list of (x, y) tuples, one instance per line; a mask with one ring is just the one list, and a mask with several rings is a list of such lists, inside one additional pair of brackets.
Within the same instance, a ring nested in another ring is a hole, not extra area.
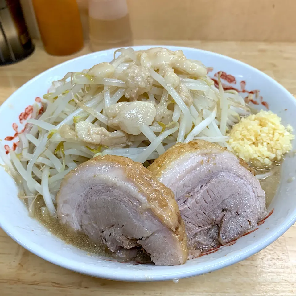
[(281, 124), (281, 118), (271, 111), (261, 110), (257, 114), (242, 118), (234, 125), (228, 136), (233, 152), (246, 162), (257, 159), (270, 165), (280, 161), (283, 154), (292, 149), (293, 128)]

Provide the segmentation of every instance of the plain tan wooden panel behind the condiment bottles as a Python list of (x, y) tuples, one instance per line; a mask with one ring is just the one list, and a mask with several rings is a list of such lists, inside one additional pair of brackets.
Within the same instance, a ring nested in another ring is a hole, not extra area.
[[(88, 39), (88, 2), (76, 0)], [(296, 41), (295, 0), (127, 0), (135, 39)], [(21, 0), (40, 38), (31, 0)]]

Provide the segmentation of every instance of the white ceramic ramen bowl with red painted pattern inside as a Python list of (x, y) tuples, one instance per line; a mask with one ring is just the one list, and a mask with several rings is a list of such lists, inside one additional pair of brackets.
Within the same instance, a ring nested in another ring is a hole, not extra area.
[[(134, 47), (147, 49), (151, 46)], [(235, 76), (236, 88), (240, 81), (246, 82), (246, 89), (259, 89), (269, 109), (282, 117), (283, 124), (290, 123), (296, 130), (296, 100), (280, 84), (257, 69), (216, 53), (186, 47), (168, 47), (171, 50), (182, 49), (187, 58), (201, 60), (215, 72), (225, 71)], [(20, 124), (18, 116), (34, 102), (35, 97), (42, 97), (51, 85), (51, 81), (62, 78), (67, 72), (81, 71), (94, 64), (113, 59), (114, 50), (95, 52), (57, 65), (36, 76), (19, 88), (0, 107), (0, 139), (13, 135), (12, 124)], [(233, 85), (233, 84), (232, 84)], [(259, 99), (258, 99), (259, 101)], [(260, 101), (259, 101), (260, 102)], [(254, 105), (255, 107), (264, 107)], [(287, 109), (285, 111), (285, 109)], [(4, 141), (2, 141), (3, 144)], [(5, 144), (11, 145), (11, 142)], [(295, 148), (295, 145), (294, 145)], [(179, 266), (132, 265), (105, 260), (96, 255), (89, 255), (71, 245), (67, 245), (38, 221), (28, 216), (27, 209), (18, 199), (17, 188), (8, 174), (0, 170), (0, 226), (15, 241), (27, 250), (56, 265), (88, 274), (94, 277), (122, 281), (157, 281), (191, 277), (208, 273), (231, 265), (259, 252), (296, 221), (295, 189), (296, 181), (288, 183), (287, 179), (295, 175), (294, 158), (287, 158), (282, 164), (282, 178), (279, 190), (268, 210), (273, 214), (259, 226), (257, 231), (243, 236), (234, 245), (221, 247), (217, 252), (188, 260)]]

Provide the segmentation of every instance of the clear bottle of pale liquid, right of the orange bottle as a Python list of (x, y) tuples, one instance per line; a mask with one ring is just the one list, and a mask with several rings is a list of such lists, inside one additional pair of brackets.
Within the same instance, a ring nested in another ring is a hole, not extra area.
[(132, 45), (126, 0), (89, 0), (88, 11), (92, 51)]

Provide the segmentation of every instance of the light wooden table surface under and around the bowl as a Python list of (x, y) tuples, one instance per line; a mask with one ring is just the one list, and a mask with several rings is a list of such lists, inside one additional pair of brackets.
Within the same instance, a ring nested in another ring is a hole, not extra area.
[[(154, 44), (137, 41), (136, 44)], [(265, 72), (296, 93), (296, 43), (163, 41), (215, 51)], [(35, 52), (17, 64), (0, 67), (0, 102), (32, 77), (79, 55), (54, 57), (36, 43)], [(280, 98), (279, 98), (280, 99)], [(295, 224), (296, 225), (296, 224)], [(249, 259), (199, 277), (169, 282), (129, 283), (84, 276), (55, 266), (23, 249), (0, 229), (0, 295), (296, 295), (296, 226)]]

